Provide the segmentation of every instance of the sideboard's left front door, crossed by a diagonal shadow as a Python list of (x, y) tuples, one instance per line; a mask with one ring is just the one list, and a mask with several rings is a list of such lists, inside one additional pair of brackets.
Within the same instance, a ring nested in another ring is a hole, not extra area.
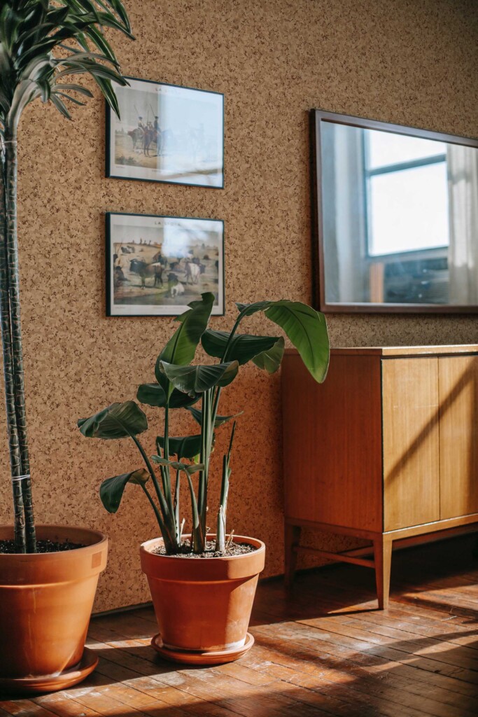
[(438, 359), (382, 361), (384, 530), (440, 518)]

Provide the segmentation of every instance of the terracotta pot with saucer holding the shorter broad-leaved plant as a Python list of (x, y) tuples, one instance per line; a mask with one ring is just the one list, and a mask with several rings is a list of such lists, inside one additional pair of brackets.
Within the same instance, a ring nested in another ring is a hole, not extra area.
[(140, 547), (159, 627), (152, 644), (163, 657), (217, 664), (236, 660), (252, 647), (247, 628), (265, 545), (243, 536), (234, 536), (234, 541), (257, 550), (224, 558), (184, 558), (153, 553), (162, 538)]

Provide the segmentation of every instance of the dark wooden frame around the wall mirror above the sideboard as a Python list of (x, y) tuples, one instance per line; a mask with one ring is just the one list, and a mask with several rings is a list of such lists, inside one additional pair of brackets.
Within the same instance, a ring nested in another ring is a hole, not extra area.
[[(369, 120), (353, 115), (343, 115), (325, 110), (312, 109), (310, 117), (310, 160), (311, 160), (311, 209), (312, 209), (312, 295), (317, 310), (323, 313), (434, 313), (434, 314), (476, 314), (478, 305), (438, 305), (438, 304), (399, 304), (399, 303), (327, 303), (325, 300), (325, 267), (322, 232), (322, 191), (321, 168), (322, 158), (320, 151), (320, 123), (322, 120), (350, 127), (381, 130), (393, 134), (401, 134), (424, 139), (431, 139), (450, 144), (457, 144), (478, 149), (478, 139), (472, 137), (459, 137), (424, 130), (415, 127), (406, 127), (379, 120)], [(477, 237), (478, 241), (478, 237)]]

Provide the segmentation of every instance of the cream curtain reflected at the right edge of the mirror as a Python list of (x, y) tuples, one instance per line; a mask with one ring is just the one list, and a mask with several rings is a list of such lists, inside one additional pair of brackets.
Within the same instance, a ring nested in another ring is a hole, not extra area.
[(449, 302), (478, 304), (478, 150), (449, 144)]

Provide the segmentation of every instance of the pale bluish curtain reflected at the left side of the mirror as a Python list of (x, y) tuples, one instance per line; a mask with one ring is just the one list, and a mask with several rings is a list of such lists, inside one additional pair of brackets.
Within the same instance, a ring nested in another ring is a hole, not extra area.
[[(327, 178), (328, 181), (324, 181)], [(322, 200), (325, 298), (333, 302), (368, 300), (365, 274), (363, 130), (324, 123)]]

